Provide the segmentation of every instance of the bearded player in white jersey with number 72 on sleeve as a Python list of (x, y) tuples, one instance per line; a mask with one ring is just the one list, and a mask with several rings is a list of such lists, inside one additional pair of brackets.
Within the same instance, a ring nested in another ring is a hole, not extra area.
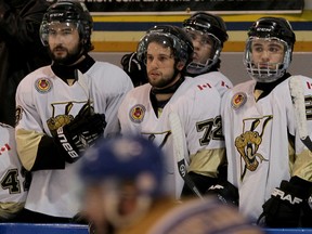
[[(169, 155), (166, 185), (177, 198), (184, 184), (182, 177), (191, 177), (205, 192), (214, 184), (218, 166), (224, 160), (220, 94), (208, 81), (184, 77), (192, 54), (192, 41), (182, 28), (151, 28), (138, 44), (138, 57), (146, 63), (148, 83), (130, 91), (118, 110), (122, 133), (141, 133)], [(181, 127), (178, 134), (173, 126)], [(181, 138), (176, 143), (174, 135)], [(181, 157), (185, 165), (178, 168)], [(185, 184), (183, 193), (193, 192)]]

